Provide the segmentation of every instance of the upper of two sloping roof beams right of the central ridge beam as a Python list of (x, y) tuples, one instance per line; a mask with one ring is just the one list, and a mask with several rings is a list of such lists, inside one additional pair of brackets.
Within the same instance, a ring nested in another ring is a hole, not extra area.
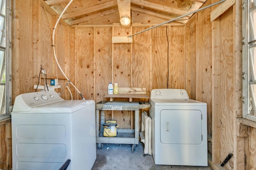
[(171, 7), (168, 7), (168, 6), (148, 2), (148, 1), (145, 1), (145, 0), (131, 0), (131, 3), (136, 4), (136, 5), (140, 5), (140, 6), (144, 6), (144, 7), (147, 7), (147, 8), (152, 8), (154, 10), (160, 10), (160, 11), (163, 11), (163, 12), (168, 12), (170, 14), (175, 14), (175, 15), (178, 15), (178, 16), (182, 16), (182, 15), (185, 15), (185, 14), (188, 13), (187, 11), (184, 11), (184, 10), (171, 8)]

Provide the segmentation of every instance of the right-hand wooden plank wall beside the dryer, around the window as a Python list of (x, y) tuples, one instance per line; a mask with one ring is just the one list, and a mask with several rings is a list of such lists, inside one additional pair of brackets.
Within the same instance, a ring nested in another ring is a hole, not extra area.
[(243, 128), (247, 131), (246, 126), (236, 121), (242, 115), (240, 8), (241, 2), (237, 1), (212, 23), (212, 9), (208, 8), (194, 15), (185, 28), (185, 89), (190, 98), (208, 105), (210, 161), (220, 164), (232, 152), (234, 156), (224, 165), (230, 170), (255, 169), (256, 160), (255, 128), (249, 127), (248, 136), (236, 132)]

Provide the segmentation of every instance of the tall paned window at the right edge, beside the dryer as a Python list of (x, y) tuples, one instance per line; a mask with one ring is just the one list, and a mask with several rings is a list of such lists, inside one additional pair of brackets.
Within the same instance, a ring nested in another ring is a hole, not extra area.
[(256, 121), (256, 0), (243, 0), (243, 117)]

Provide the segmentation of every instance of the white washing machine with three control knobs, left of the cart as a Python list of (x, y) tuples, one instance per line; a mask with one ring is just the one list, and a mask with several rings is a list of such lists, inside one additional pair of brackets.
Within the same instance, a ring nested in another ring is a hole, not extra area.
[(96, 160), (94, 100), (64, 100), (55, 91), (16, 97), (12, 170), (90, 170)]

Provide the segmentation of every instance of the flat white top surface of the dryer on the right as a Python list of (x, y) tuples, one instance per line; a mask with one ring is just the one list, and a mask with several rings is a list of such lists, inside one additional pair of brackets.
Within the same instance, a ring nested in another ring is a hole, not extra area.
[(150, 99), (149, 102), (155, 106), (206, 106), (206, 103), (192, 99)]

